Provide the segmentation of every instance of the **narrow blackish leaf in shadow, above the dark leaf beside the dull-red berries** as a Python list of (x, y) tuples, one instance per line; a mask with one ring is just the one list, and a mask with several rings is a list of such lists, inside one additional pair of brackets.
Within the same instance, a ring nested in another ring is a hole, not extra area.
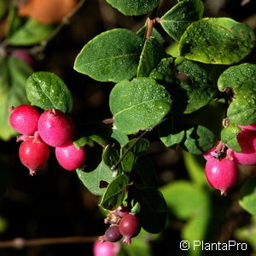
[(158, 188), (158, 177), (150, 157), (138, 158), (135, 163), (135, 170), (144, 187)]

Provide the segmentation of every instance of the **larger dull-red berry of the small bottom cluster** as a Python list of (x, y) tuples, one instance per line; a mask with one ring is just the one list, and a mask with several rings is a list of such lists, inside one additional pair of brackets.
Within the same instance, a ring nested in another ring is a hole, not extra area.
[(121, 218), (119, 222), (119, 231), (125, 236), (124, 242), (131, 243), (131, 238), (137, 236), (141, 230), (141, 224), (136, 214), (129, 213)]

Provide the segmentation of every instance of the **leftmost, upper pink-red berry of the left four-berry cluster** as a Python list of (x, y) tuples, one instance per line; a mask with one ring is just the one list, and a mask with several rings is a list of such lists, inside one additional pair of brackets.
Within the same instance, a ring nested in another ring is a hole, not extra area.
[(15, 129), (25, 135), (33, 135), (38, 131), (38, 119), (41, 115), (38, 108), (31, 105), (20, 105), (17, 108), (9, 108), (11, 114), (9, 123)]

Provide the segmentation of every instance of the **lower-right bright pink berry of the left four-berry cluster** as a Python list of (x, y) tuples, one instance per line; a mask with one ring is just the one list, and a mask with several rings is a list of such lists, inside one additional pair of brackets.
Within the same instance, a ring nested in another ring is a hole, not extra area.
[(59, 164), (68, 171), (79, 168), (85, 160), (85, 148), (76, 148), (73, 143), (67, 143), (55, 148), (55, 155)]

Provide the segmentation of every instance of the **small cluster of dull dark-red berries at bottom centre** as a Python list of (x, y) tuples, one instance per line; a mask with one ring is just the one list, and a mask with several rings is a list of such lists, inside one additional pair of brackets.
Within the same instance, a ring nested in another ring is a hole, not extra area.
[(119, 209), (109, 212), (108, 217), (105, 218), (105, 223), (110, 224), (103, 236), (99, 240), (115, 242), (119, 241), (125, 236), (123, 242), (131, 244), (131, 238), (139, 234), (141, 224), (137, 214), (128, 211), (126, 207), (119, 207)]

